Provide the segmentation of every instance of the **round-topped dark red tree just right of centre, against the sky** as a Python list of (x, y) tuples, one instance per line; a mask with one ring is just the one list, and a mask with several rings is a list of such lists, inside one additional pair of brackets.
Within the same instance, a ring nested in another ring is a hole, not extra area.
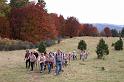
[(68, 17), (65, 23), (65, 34), (70, 38), (77, 36), (80, 24), (75, 17)]

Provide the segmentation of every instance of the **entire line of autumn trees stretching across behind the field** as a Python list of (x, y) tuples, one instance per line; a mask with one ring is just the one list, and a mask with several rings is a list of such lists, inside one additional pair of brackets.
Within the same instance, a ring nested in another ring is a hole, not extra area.
[(29, 0), (0, 1), (0, 37), (37, 43), (47, 39), (75, 36), (124, 37), (124, 28), (105, 27), (99, 32), (92, 24), (82, 24), (76, 17), (65, 19), (63, 15), (48, 13), (44, 0), (37, 3)]

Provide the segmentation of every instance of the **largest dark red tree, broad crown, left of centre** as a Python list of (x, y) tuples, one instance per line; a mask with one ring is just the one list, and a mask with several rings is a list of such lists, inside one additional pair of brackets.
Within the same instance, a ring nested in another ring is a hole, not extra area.
[(14, 39), (33, 43), (54, 38), (53, 28), (49, 25), (49, 15), (42, 3), (29, 4), (11, 11), (11, 28)]

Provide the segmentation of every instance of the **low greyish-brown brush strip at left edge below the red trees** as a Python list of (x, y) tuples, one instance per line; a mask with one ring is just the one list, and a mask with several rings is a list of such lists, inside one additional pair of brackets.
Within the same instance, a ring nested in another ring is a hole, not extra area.
[(35, 48), (34, 44), (21, 40), (0, 40), (0, 51), (12, 51)]

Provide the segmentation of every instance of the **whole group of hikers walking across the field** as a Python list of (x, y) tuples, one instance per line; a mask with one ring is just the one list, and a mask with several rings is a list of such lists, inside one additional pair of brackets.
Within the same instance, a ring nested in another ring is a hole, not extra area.
[[(83, 50), (80, 52), (80, 60), (87, 59), (88, 53)], [(48, 70), (48, 73), (51, 73), (52, 69), (55, 69), (55, 74), (59, 75), (61, 71), (63, 71), (63, 67), (66, 67), (71, 60), (77, 60), (77, 53), (73, 51), (72, 53), (64, 53), (61, 50), (57, 50), (57, 52), (44, 52), (39, 53), (34, 50), (30, 52), (26, 50), (25, 53), (25, 61), (26, 68), (31, 71), (34, 70), (34, 67), (40, 67), (40, 73), (45, 70)]]

